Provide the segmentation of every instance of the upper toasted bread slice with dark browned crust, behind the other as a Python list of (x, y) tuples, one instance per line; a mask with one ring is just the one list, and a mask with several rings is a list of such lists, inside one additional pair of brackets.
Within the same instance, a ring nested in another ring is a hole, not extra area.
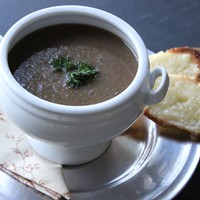
[(200, 48), (179, 47), (149, 56), (153, 69), (162, 65), (169, 74), (178, 74), (200, 82)]

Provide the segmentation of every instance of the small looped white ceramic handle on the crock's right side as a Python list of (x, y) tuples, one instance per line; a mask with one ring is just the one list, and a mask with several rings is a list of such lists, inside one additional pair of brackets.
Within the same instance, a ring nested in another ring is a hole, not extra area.
[[(153, 89), (158, 77), (161, 77), (161, 81), (159, 82), (159, 85)], [(169, 76), (164, 67), (157, 67), (151, 72), (149, 86), (150, 88), (145, 97), (145, 104), (152, 105), (162, 101), (169, 87)]]

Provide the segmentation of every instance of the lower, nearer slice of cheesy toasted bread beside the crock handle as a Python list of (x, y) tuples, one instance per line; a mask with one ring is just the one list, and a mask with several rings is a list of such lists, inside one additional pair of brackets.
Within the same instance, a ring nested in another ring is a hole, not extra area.
[(170, 87), (163, 101), (147, 106), (144, 114), (164, 127), (174, 127), (200, 136), (200, 84), (188, 78), (170, 76)]

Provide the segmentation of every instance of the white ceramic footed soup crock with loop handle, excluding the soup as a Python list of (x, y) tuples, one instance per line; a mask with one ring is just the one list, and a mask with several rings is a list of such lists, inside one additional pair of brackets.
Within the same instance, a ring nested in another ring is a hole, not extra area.
[[(138, 71), (129, 87), (110, 100), (86, 106), (55, 104), (26, 91), (9, 69), (9, 50), (27, 34), (63, 23), (92, 25), (120, 37), (138, 59)], [(160, 85), (152, 89), (157, 77), (161, 77)], [(74, 165), (97, 158), (114, 137), (134, 123), (145, 105), (164, 98), (168, 81), (164, 68), (150, 72), (147, 50), (137, 32), (118, 17), (95, 8), (58, 6), (36, 11), (15, 23), (0, 44), (1, 106), (27, 134), (35, 152), (55, 163)]]

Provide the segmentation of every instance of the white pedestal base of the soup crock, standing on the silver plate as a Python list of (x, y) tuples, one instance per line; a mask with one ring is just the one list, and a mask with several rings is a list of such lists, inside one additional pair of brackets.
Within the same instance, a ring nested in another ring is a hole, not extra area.
[(33, 150), (41, 157), (62, 165), (79, 165), (94, 160), (103, 154), (111, 141), (86, 147), (63, 147), (27, 136)]

